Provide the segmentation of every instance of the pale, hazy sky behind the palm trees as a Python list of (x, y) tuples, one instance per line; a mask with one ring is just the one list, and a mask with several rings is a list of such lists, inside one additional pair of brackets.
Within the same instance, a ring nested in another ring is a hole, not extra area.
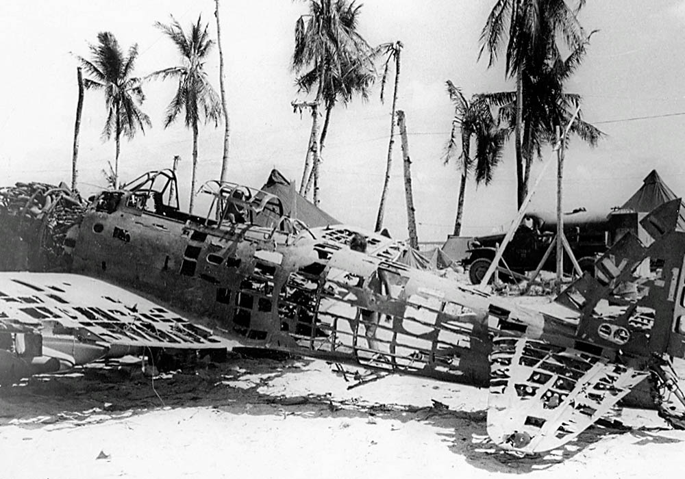
[[(443, 158), (453, 105), (445, 88), (451, 79), (466, 96), (513, 90), (503, 64), (488, 69), (478, 61), (479, 35), (494, 1), (366, 0), (358, 29), (370, 44), (401, 40), (398, 108), (406, 112), (412, 185), (420, 242), (444, 241), (453, 229), (459, 194), (456, 164)], [(228, 179), (253, 187), (272, 168), (301, 179), (311, 120), (290, 103), (297, 92), (290, 69), (297, 18), (305, 1), (221, 2), (227, 106), (231, 123)], [(71, 183), (77, 103), (75, 55), (88, 56), (99, 31), (111, 31), (124, 49), (137, 43), (135, 75), (179, 64), (171, 44), (154, 24), (170, 15), (184, 26), (201, 15), (216, 38), (214, 1), (5, 0), (0, 3), (0, 171), (3, 181)], [(590, 148), (571, 140), (564, 164), (564, 211), (586, 207), (608, 213), (642, 184), (652, 169), (680, 196), (685, 191), (685, 1), (590, 0), (580, 14), (588, 30), (598, 29), (584, 63), (567, 90), (582, 95), (584, 119), (606, 133)], [(219, 91), (219, 53), (206, 63)], [(131, 180), (147, 170), (171, 168), (179, 155), (179, 191), (187, 205), (192, 135), (180, 121), (164, 129), (164, 109), (173, 81), (144, 86), (142, 109), (153, 127), (123, 140), (120, 176)], [(649, 118), (644, 118), (649, 117)], [(79, 149), (79, 190), (105, 186), (102, 170), (114, 161), (114, 141), (103, 141), (105, 106), (101, 92), (86, 92)], [(390, 132), (390, 101), (379, 100), (379, 82), (368, 101), (354, 99), (334, 109), (321, 166), (321, 207), (341, 222), (373, 229)], [(395, 142), (385, 226), (406, 238), (407, 216), (399, 138)], [(199, 183), (221, 170), (223, 127), (199, 132)], [(549, 148), (543, 161), (551, 160)], [(543, 165), (534, 165), (535, 178)], [(486, 234), (516, 213), (514, 148), (506, 148), (490, 185), (466, 186), (462, 234)], [(556, 173), (545, 172), (533, 210), (556, 208)]]

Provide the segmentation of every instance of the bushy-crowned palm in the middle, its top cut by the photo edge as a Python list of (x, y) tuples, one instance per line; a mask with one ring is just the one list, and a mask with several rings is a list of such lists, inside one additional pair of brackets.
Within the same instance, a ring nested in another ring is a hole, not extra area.
[[(305, 159), (300, 192), (304, 192), (308, 179), (310, 157), (313, 156), (314, 204), (319, 203), (319, 106), (327, 101), (331, 104), (336, 96), (334, 83), (345, 82), (349, 71), (361, 70), (369, 62), (371, 48), (357, 31), (359, 10), (349, 0), (309, 0), (309, 13), (302, 15), (295, 23), (295, 50), (292, 54), (292, 69), (299, 75), (300, 86), (309, 85), (313, 90), (313, 102), (304, 105), (312, 109), (312, 133)], [(295, 105), (295, 103), (293, 103)]]

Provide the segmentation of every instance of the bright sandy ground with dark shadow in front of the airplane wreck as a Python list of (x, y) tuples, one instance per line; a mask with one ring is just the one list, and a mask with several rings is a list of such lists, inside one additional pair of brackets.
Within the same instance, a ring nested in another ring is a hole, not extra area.
[(154, 380), (135, 366), (34, 377), (0, 388), (1, 477), (643, 478), (685, 467), (685, 431), (654, 411), (516, 458), (486, 435), (484, 389), (400, 376), (347, 389), (333, 370), (234, 355)]

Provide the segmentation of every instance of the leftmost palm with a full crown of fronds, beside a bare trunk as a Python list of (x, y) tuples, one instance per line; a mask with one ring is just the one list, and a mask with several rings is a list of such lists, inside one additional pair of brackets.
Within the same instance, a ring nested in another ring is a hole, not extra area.
[[(104, 90), (107, 120), (102, 131), (103, 138), (109, 140), (114, 134), (116, 155), (114, 156), (114, 187), (119, 182), (119, 152), (121, 134), (132, 139), (138, 128), (145, 133), (145, 125), (151, 127), (150, 118), (138, 105), (145, 100), (140, 87), (140, 79), (132, 77), (138, 45), (134, 44), (124, 55), (119, 42), (109, 31), (97, 34), (97, 43), (90, 44), (92, 60), (78, 57), (79, 63), (90, 75), (84, 79), (84, 86), (91, 90)], [(137, 104), (136, 104), (137, 103)]]

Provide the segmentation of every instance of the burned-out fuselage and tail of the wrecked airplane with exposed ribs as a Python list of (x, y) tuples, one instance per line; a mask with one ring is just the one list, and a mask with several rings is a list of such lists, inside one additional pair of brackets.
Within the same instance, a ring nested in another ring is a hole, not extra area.
[[(685, 355), (680, 200), (644, 218), (652, 244), (629, 233), (597, 260), (596, 277), (586, 274), (548, 305), (523, 307), (398, 263), (403, 245), (392, 239), (349, 226), (309, 229), (260, 190), (208, 182), (199, 190), (210, 200), (206, 216), (179, 211), (175, 192), (169, 170), (102, 192), (64, 236), (56, 263), (246, 344), (377, 377), (488, 387), (488, 434), (506, 450), (558, 448), (624, 398), (683, 423), (667, 404), (685, 404), (671, 365)], [(356, 238), (365, 248), (350, 248)], [(662, 262), (660, 276), (609, 307), (647, 258)], [(8, 280), (0, 278), (0, 291)]]

